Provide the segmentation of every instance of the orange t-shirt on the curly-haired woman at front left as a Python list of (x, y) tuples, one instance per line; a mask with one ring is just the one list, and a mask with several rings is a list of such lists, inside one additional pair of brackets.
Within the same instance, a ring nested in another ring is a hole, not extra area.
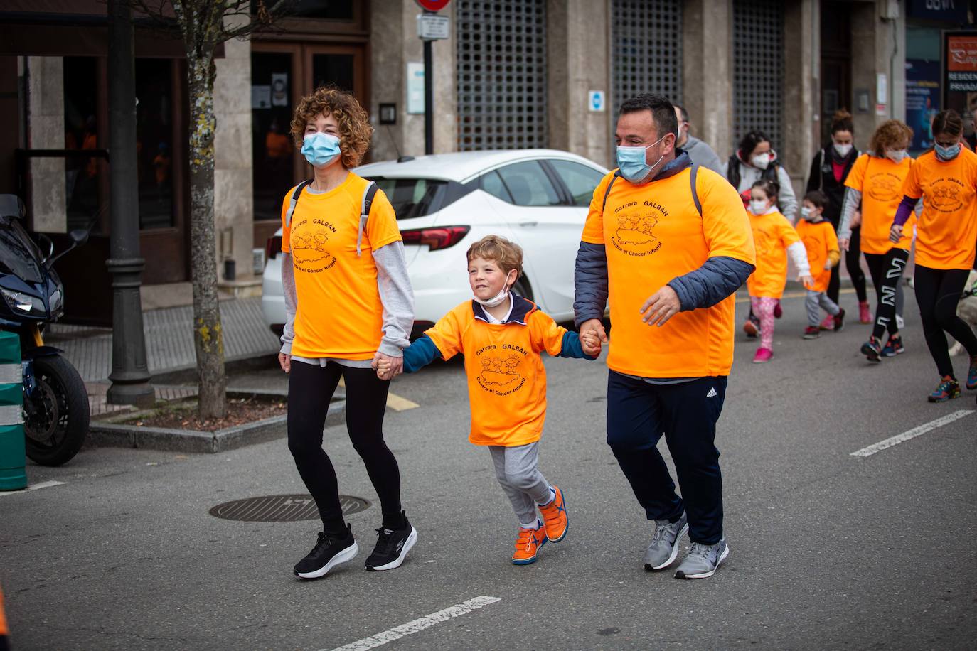
[(281, 204), (281, 251), (291, 254), (298, 297), (294, 355), (363, 360), (371, 359), (380, 346), (383, 304), (373, 251), (400, 241), (401, 231), (393, 206), (377, 190), (357, 255), (367, 183), (351, 172), (328, 192), (304, 188), (290, 227), (285, 213), (294, 187)]

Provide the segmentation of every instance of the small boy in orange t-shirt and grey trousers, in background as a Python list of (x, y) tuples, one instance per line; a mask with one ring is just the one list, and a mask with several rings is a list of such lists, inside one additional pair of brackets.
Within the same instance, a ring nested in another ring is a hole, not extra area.
[(821, 329), (819, 305), (833, 317), (834, 332), (841, 330), (844, 323), (845, 310), (828, 299), (828, 282), (831, 279), (831, 267), (841, 260), (838, 250), (838, 236), (834, 233), (834, 226), (825, 219), (825, 206), (828, 197), (821, 190), (814, 190), (804, 195), (801, 205), (801, 220), (797, 223), (797, 234), (807, 250), (807, 260), (811, 264), (811, 275), (814, 282), (805, 285), (807, 288), (807, 328), (804, 329), (804, 339), (818, 339)]

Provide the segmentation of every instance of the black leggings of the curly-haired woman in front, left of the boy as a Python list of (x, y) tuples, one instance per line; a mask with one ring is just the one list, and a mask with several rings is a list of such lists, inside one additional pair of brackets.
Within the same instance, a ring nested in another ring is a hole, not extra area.
[(383, 526), (399, 528), (401, 470), (383, 440), (390, 381), (377, 378), (373, 369), (350, 368), (336, 362), (319, 366), (292, 361), (288, 377), (288, 450), (316, 500), (325, 531), (342, 533), (346, 524), (339, 504), (336, 471), (322, 450), (322, 427), (340, 376), (346, 380), (346, 428), (380, 497)]

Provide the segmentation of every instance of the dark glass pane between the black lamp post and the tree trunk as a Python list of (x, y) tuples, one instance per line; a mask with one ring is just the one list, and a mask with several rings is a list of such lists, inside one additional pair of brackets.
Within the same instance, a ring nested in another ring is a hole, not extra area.
[(139, 227), (173, 226), (173, 63), (136, 60)]

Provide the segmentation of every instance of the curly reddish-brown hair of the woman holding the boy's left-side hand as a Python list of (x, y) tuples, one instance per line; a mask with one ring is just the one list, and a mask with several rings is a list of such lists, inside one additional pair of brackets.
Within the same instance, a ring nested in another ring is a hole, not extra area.
[(360, 164), (373, 136), (369, 115), (351, 93), (335, 86), (322, 86), (299, 101), (292, 117), (292, 140), (302, 146), (306, 126), (319, 114), (331, 114), (339, 123), (339, 148), (343, 167), (354, 168)]

